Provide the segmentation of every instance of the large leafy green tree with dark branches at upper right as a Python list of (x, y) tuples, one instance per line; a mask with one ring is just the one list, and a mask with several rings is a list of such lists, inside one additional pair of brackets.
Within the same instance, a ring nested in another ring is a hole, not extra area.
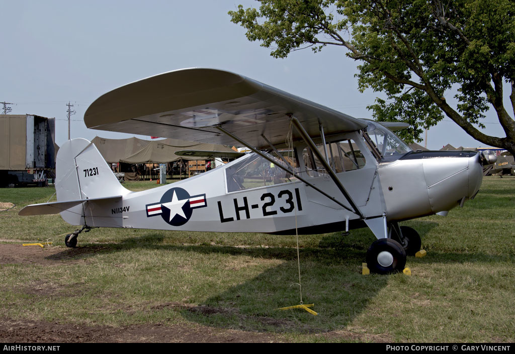
[[(515, 153), (515, 121), (503, 103), (511, 88), (515, 113), (515, 2), (513, 0), (259, 0), (259, 9), (230, 11), (250, 41), (285, 58), (335, 45), (359, 61), (358, 88), (377, 98), (376, 120), (410, 124), (407, 140), (444, 114), (484, 144)], [(445, 95), (457, 92), (452, 107)], [(506, 137), (482, 132), (493, 108)], [(476, 126), (479, 128), (476, 128)]]

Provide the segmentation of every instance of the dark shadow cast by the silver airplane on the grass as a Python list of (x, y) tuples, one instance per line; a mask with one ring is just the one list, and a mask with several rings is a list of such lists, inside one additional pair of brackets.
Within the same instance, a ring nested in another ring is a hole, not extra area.
[[(423, 235), (438, 224), (423, 222)], [(366, 236), (366, 235), (365, 235)], [(278, 236), (284, 237), (284, 236)], [(294, 236), (289, 236), (294, 237)], [(280, 311), (281, 307), (298, 305), (300, 292), (297, 269), (297, 250), (294, 247), (235, 247), (223, 245), (163, 244), (165, 236), (148, 232), (117, 244), (83, 244), (67, 249), (47, 259), (94, 258), (102, 253), (132, 249), (182, 251), (203, 254), (220, 253), (232, 256), (277, 259), (283, 262), (272, 266), (242, 284), (220, 291), (201, 304), (172, 304), (188, 321), (206, 326), (244, 329), (262, 332), (326, 333), (345, 328), (361, 314), (371, 300), (387, 285), (389, 276), (361, 274), (369, 238), (363, 235), (342, 236), (340, 233), (321, 237), (318, 247), (300, 249), (302, 296), (304, 304), (312, 304), (319, 312), (313, 316), (301, 309)], [(408, 262), (485, 262), (495, 261), (486, 254), (436, 253), (422, 260)], [(502, 259), (499, 259), (502, 261)], [(408, 264), (409, 266), (409, 264)], [(234, 271), (237, 271), (235, 269)], [(222, 282), (224, 279), (220, 279)], [(168, 305), (165, 305), (165, 307)]]

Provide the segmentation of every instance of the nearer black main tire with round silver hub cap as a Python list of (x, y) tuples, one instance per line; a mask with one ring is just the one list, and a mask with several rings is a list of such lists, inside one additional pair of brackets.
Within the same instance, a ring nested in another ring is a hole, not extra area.
[(402, 272), (406, 266), (406, 251), (396, 240), (374, 241), (367, 251), (367, 267), (372, 273)]

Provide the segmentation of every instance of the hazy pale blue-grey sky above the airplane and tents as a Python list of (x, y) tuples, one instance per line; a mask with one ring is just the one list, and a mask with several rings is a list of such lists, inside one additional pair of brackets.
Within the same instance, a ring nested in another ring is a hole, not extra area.
[[(230, 21), (238, 4), (251, 0), (0, 0), (0, 101), (14, 103), (10, 114), (56, 119), (56, 143), (71, 137), (125, 138), (89, 130), (88, 106), (102, 94), (132, 81), (187, 67), (225, 69), (317, 102), (356, 118), (370, 118), (366, 107), (377, 96), (357, 90), (357, 62), (340, 47), (311, 49), (274, 59), (270, 49), (249, 42), (245, 29)], [(446, 98), (452, 102), (453, 94)], [(0, 105), (0, 109), (2, 106)], [(504, 137), (495, 115), (487, 114), (485, 133)], [(423, 136), (422, 136), (423, 138)], [(419, 143), (424, 146), (424, 142)], [(427, 148), (485, 147), (444, 118), (428, 131)]]

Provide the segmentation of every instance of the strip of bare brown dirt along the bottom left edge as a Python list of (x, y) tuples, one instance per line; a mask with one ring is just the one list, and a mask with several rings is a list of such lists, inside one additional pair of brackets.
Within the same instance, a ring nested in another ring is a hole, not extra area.
[(44, 321), (0, 320), (6, 343), (270, 343), (277, 335), (200, 325), (148, 324), (125, 327), (83, 326)]

